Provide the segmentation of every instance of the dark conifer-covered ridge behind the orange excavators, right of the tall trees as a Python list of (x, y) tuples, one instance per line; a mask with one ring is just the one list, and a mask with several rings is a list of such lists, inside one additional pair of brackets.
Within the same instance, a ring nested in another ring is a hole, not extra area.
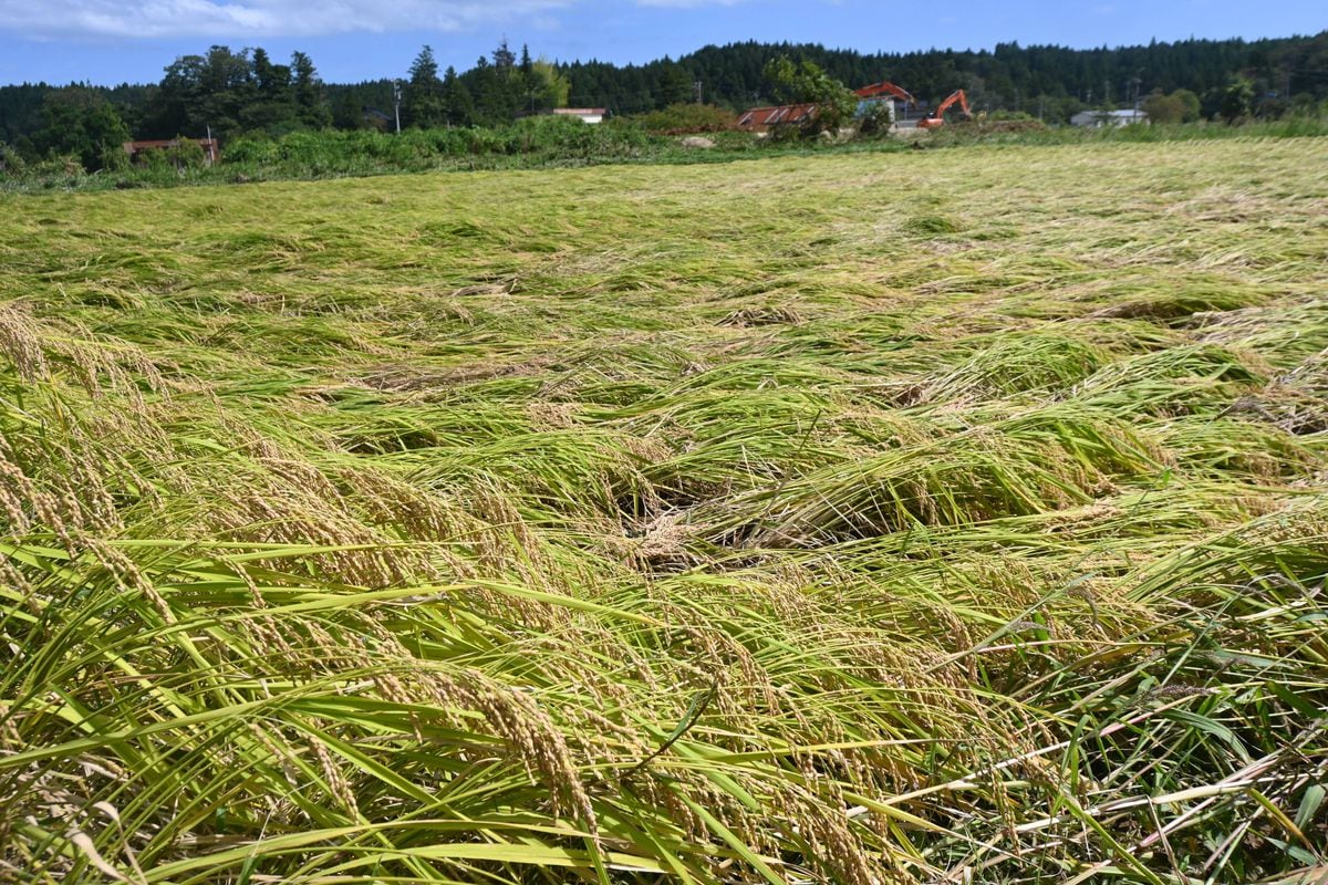
[(863, 54), (807, 44), (741, 42), (705, 46), (677, 61), (619, 68), (576, 62), (563, 68), (572, 103), (596, 103), (619, 114), (659, 107), (700, 84), (705, 101), (748, 107), (770, 100), (762, 72), (776, 56), (809, 60), (849, 86), (891, 80), (935, 102), (964, 89), (981, 110), (1025, 111), (1064, 122), (1084, 107), (1126, 106), (1153, 92), (1185, 89), (1220, 111), (1220, 92), (1235, 78), (1251, 81), (1251, 113), (1276, 117), (1296, 97), (1328, 98), (1328, 31), (1275, 40), (1185, 40), (1117, 49), (1065, 49), (997, 44), (995, 50), (931, 49)]

